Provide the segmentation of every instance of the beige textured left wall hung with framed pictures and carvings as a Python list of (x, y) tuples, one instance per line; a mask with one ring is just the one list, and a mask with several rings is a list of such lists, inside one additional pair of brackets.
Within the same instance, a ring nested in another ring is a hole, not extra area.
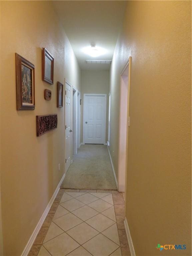
[[(41, 49), (54, 56), (54, 84), (41, 80)], [(15, 52), (35, 65), (35, 110), (16, 111)], [(1, 1), (1, 193), (4, 255), (21, 255), (64, 169), (64, 108), (57, 81), (80, 89), (80, 69), (51, 1)], [(44, 89), (52, 91), (44, 100)], [(36, 115), (58, 128), (36, 137)], [(60, 163), (60, 171), (58, 164)]]

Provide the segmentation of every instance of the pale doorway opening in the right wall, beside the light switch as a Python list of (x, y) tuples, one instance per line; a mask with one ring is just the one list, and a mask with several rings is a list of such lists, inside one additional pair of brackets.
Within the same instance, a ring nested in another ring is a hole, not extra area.
[(127, 180), (127, 144), (129, 117), (129, 91), (130, 91), (130, 65), (131, 57), (127, 60), (121, 72), (120, 114), (119, 114), (119, 150), (118, 150), (118, 191), (125, 192)]

